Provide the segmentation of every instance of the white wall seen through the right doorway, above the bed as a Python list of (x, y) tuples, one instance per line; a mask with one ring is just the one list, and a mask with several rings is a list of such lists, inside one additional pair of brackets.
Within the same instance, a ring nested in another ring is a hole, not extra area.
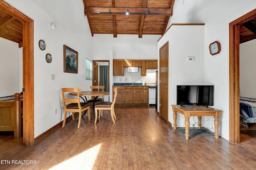
[(240, 96), (256, 98), (256, 40), (240, 44)]

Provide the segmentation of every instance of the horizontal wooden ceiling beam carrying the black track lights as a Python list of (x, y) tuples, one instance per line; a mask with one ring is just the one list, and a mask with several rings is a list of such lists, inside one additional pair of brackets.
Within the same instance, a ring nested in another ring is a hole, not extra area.
[[(110, 10), (110, 14), (108, 14)], [(89, 7), (85, 9), (85, 14), (105, 14), (105, 15), (124, 15), (126, 10), (129, 13), (139, 13), (138, 15), (146, 15), (146, 10), (149, 13), (158, 13), (158, 14), (149, 14), (149, 15), (172, 15), (172, 9), (170, 8), (98, 8), (98, 7)], [(98, 12), (106, 12), (106, 13), (98, 13)], [(122, 12), (121, 14), (115, 12)], [(141, 14), (140, 14), (141, 13)], [(132, 14), (136, 15), (136, 14)]]

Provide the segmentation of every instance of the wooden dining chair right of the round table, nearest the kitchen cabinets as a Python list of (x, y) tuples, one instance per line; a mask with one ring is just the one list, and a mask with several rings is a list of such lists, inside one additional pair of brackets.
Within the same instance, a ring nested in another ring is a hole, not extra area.
[[(97, 122), (97, 116), (98, 116), (98, 110), (103, 111), (103, 110), (110, 110), (110, 115), (112, 118), (112, 121), (114, 123), (116, 119), (116, 115), (115, 115), (115, 110), (114, 110), (114, 105), (116, 103), (116, 95), (117, 95), (117, 88), (114, 88), (114, 100), (113, 102), (108, 102), (108, 101), (101, 101), (95, 104), (94, 109), (95, 109), (95, 121), (94, 124), (96, 124)], [(99, 114), (99, 118), (100, 118), (100, 114)]]

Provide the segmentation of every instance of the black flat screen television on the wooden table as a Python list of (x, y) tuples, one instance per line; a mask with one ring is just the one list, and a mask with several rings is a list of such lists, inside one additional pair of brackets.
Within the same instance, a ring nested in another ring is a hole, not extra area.
[(177, 85), (177, 105), (213, 106), (213, 85)]

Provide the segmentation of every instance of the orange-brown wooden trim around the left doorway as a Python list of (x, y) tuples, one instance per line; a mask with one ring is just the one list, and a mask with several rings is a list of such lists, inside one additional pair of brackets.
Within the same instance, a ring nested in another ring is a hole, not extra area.
[(0, 10), (23, 22), (23, 144), (34, 144), (34, 21), (0, 1)]

